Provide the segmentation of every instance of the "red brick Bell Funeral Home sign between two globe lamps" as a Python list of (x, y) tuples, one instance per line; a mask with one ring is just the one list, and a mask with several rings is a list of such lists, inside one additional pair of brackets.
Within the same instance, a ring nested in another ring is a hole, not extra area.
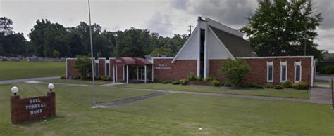
[(56, 116), (56, 93), (24, 99), (18, 95), (11, 97), (11, 123), (25, 123), (49, 116)]

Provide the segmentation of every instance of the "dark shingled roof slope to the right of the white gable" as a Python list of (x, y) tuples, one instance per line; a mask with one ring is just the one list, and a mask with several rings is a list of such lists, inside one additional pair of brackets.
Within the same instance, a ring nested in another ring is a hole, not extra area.
[(253, 48), (249, 46), (249, 42), (243, 39), (240, 36), (235, 36), (234, 34), (230, 34), (228, 32), (224, 32), (220, 29), (216, 29), (215, 27), (209, 26), (221, 42), (228, 48), (230, 53), (234, 57), (251, 57), (252, 52), (254, 52)]

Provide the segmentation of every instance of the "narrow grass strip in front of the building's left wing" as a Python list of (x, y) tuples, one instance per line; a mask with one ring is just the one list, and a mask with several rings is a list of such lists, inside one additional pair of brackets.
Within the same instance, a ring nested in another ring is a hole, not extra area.
[[(70, 79), (50, 79), (50, 80), (44, 80), (43, 82), (49, 82), (49, 83), (70, 83), (70, 84), (84, 84), (84, 85), (92, 85), (92, 81), (84, 81), (84, 80), (70, 80)], [(103, 85), (107, 83), (113, 83), (112, 81), (95, 81), (96, 85)]]

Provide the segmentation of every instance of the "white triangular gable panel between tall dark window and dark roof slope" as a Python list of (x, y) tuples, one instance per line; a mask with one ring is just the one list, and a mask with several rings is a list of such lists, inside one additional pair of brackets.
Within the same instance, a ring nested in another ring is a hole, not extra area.
[[(232, 60), (235, 60), (235, 57), (232, 55), (232, 53), (230, 53), (230, 50), (228, 50), (228, 48), (226, 48), (224, 43), (221, 42), (221, 40), (214, 33), (214, 31), (210, 27), (208, 27), (208, 29), (209, 29), (208, 34), (209, 34), (209, 36), (211, 36), (211, 37), (208, 36), (208, 41), (213, 42), (212, 45), (211, 45), (211, 43), (208, 43), (208, 45), (209, 45), (209, 48), (208, 48), (209, 59), (232, 59)], [(214, 45), (214, 44), (216, 44), (216, 45)], [(220, 45), (221, 47), (219, 47), (218, 45)], [(210, 51), (214, 51), (214, 53), (210, 53)]]

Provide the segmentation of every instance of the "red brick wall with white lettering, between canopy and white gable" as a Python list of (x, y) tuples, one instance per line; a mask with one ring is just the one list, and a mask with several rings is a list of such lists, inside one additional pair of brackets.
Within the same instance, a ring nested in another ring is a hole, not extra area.
[[(173, 64), (171, 63), (172, 60), (154, 59), (154, 77), (157, 79), (179, 80), (186, 79), (190, 73), (197, 74), (197, 60), (176, 60)], [(161, 67), (162, 65), (165, 69)], [(158, 67), (162, 69), (158, 69)]]

